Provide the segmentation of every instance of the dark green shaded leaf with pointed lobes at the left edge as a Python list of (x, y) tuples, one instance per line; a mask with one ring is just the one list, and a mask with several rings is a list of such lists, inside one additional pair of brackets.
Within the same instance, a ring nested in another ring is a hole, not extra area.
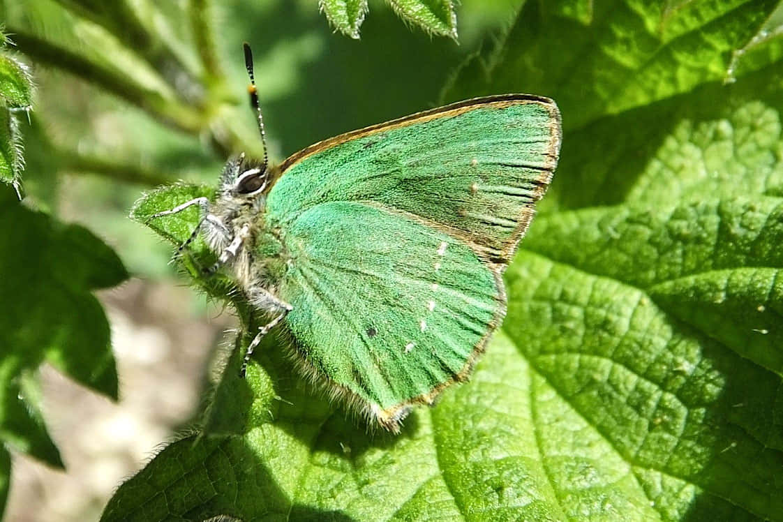
[[(41, 362), (117, 397), (109, 324), (91, 290), (127, 277), (121, 261), (90, 232), (28, 210), (0, 189), (0, 295), (13, 304), (0, 317), (0, 439), (60, 466), (34, 394), (24, 386)], [(44, 306), (45, 304), (45, 306)]]

